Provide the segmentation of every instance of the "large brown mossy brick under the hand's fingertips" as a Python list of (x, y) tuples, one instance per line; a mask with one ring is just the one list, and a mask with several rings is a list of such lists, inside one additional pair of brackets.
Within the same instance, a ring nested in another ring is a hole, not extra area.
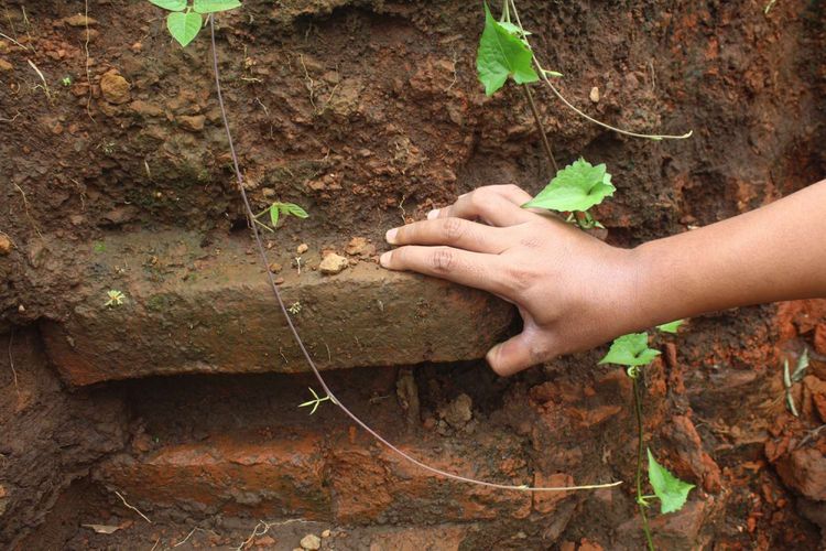
[[(52, 361), (73, 385), (183, 372), (297, 372), (308, 368), (246, 239), (204, 247), (195, 234), (108, 238), (86, 259), (85, 298), (43, 324)], [(362, 261), (333, 277), (303, 256), (279, 276), (322, 369), (483, 357), (514, 316), (487, 293)], [(126, 295), (105, 306), (107, 292)], [(84, 294), (85, 293), (85, 294)]]

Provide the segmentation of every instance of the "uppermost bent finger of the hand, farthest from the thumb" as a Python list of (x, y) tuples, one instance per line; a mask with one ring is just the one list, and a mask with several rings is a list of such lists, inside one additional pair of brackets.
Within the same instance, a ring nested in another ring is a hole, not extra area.
[(480, 218), (491, 226), (515, 226), (533, 216), (520, 206), (530, 199), (531, 196), (515, 185), (490, 185), (461, 195), (453, 205), (431, 212), (427, 218)]

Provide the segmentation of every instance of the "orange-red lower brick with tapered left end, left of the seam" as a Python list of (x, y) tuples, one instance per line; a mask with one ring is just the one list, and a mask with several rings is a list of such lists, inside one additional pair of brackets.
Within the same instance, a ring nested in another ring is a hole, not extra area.
[(258, 433), (241, 432), (117, 455), (95, 477), (148, 510), (322, 520), (332, 507), (320, 442), (290, 433), (262, 441)]

